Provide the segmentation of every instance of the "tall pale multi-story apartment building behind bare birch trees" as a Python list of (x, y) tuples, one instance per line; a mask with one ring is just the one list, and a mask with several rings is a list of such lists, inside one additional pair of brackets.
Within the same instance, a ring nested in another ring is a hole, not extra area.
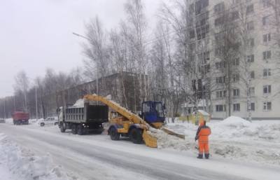
[(207, 82), (212, 118), (280, 119), (277, 2), (190, 2), (190, 57)]

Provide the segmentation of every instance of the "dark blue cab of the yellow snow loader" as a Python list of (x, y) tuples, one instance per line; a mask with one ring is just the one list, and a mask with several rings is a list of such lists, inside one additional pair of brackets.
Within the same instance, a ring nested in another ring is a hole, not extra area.
[(141, 118), (147, 123), (164, 123), (165, 111), (162, 102), (143, 102), (141, 107)]

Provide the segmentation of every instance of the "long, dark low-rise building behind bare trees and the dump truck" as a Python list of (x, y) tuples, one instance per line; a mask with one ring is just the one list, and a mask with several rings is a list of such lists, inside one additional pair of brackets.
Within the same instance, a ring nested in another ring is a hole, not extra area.
[(113, 101), (127, 107), (130, 111), (140, 111), (141, 100), (145, 98), (143, 95), (142, 98), (140, 96), (137, 74), (123, 71), (58, 92), (59, 106), (74, 104), (77, 99), (86, 94), (98, 94), (104, 97), (111, 95)]

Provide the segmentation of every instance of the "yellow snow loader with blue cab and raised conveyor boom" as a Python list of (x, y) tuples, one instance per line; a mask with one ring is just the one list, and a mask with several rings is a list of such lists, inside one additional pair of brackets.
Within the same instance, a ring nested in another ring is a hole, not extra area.
[(84, 99), (102, 102), (112, 110), (108, 130), (112, 140), (119, 140), (120, 136), (129, 137), (135, 144), (141, 144), (144, 141), (146, 146), (156, 148), (158, 147), (157, 138), (151, 133), (151, 131), (157, 132), (155, 129), (163, 130), (167, 134), (183, 139), (185, 138), (184, 135), (172, 132), (162, 126), (165, 122), (162, 102), (143, 102), (141, 104), (141, 114), (138, 116), (106, 97), (85, 95)]

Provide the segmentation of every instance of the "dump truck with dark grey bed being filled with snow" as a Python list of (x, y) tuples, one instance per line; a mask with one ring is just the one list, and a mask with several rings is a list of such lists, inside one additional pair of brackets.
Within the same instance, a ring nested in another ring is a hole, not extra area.
[(79, 106), (63, 106), (59, 108), (59, 129), (65, 132), (71, 130), (73, 134), (101, 134), (104, 123), (109, 121), (109, 108), (106, 105), (83, 102)]

